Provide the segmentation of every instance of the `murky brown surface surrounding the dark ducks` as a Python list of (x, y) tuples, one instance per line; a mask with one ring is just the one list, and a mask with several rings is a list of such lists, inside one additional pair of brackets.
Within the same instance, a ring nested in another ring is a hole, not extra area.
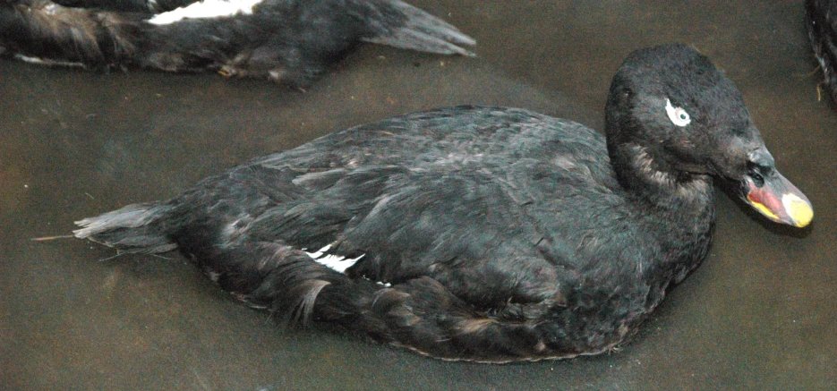
[[(837, 389), (837, 112), (802, 1), (416, 0), (477, 58), (364, 46), (306, 93), (213, 74), (96, 74), (0, 61), (0, 389)], [(184, 191), (250, 157), (434, 106), (522, 106), (602, 129), (628, 52), (693, 44), (739, 86), (813, 226), (718, 194), (705, 265), (617, 353), (444, 362), (327, 327), (287, 329), (179, 255), (124, 256), (73, 221)], [(102, 260), (107, 259), (107, 260)]]

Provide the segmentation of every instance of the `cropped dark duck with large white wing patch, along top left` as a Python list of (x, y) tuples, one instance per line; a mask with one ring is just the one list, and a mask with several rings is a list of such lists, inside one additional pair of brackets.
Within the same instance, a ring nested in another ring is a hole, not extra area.
[(397, 0), (0, 2), (0, 53), (38, 64), (209, 70), (304, 87), (360, 42), (444, 55), (473, 55), (462, 46), (474, 45)]

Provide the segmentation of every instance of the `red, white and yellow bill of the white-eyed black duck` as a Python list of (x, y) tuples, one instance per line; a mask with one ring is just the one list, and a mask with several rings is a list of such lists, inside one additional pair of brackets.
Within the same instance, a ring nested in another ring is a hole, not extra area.
[(764, 177), (764, 184), (756, 186), (752, 177), (744, 181), (744, 195), (747, 204), (764, 217), (777, 223), (803, 227), (814, 218), (814, 208), (802, 191), (790, 183), (778, 171)]

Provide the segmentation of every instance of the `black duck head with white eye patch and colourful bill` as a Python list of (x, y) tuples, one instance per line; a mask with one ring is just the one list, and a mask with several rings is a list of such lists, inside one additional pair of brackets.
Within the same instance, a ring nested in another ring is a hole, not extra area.
[(802, 227), (814, 217), (805, 194), (776, 170), (739, 90), (694, 47), (628, 55), (606, 113), (611, 162), (628, 191), (688, 196), (716, 176), (774, 222)]

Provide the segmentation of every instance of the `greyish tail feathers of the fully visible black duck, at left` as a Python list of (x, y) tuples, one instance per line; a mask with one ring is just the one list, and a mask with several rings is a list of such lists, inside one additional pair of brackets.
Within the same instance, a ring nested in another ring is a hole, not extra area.
[(134, 204), (97, 217), (76, 221), (75, 237), (113, 247), (121, 252), (157, 253), (175, 250), (161, 228), (161, 217), (172, 208), (157, 202)]

